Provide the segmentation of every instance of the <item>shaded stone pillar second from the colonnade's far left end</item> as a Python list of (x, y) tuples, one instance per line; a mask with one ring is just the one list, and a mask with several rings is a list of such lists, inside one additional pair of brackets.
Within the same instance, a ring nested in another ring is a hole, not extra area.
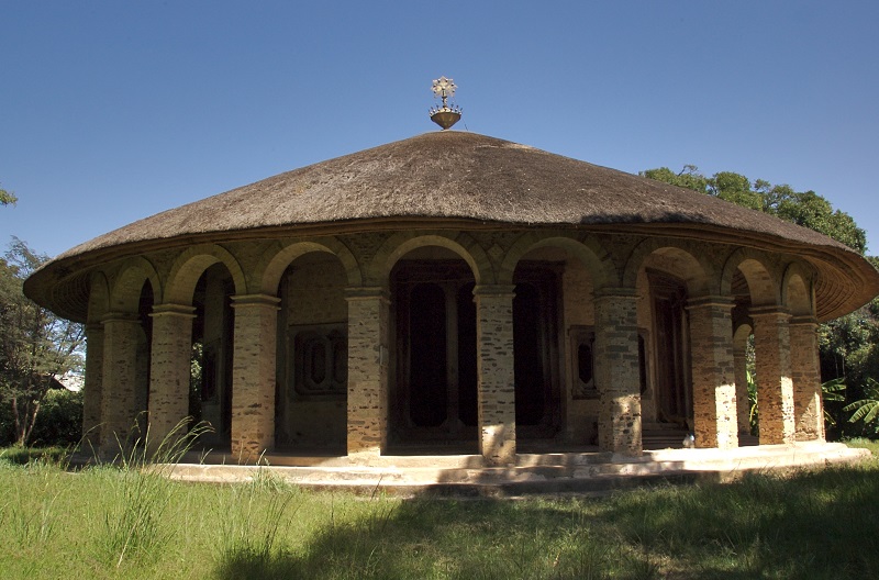
[(103, 324), (101, 454), (112, 457), (142, 436), (137, 433), (137, 346), (143, 328), (136, 314), (111, 312)]

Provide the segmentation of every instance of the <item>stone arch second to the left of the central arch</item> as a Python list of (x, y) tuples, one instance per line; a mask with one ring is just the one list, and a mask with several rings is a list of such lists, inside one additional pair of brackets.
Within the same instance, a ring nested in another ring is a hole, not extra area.
[(223, 264), (232, 276), (235, 293), (246, 294), (248, 292), (247, 282), (238, 260), (221, 246), (204, 244), (191, 247), (177, 257), (168, 276), (164, 302), (170, 304), (191, 303), (199, 278), (204, 270), (218, 263)]

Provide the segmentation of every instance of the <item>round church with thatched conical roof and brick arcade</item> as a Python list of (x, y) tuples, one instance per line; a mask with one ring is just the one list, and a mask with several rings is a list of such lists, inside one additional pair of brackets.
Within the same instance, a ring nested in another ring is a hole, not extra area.
[(764, 213), (441, 131), (135, 222), (25, 293), (86, 323), (84, 432), (105, 453), (191, 416), (232, 461), (509, 466), (661, 434), (823, 440), (816, 326), (879, 274)]

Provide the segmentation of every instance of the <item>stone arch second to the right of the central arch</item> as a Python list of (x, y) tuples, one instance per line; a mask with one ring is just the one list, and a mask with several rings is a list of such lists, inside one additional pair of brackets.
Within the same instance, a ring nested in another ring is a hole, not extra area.
[(693, 252), (688, 244), (657, 238), (644, 239), (628, 256), (623, 272), (623, 288), (635, 288), (638, 272), (647, 258), (654, 254), (667, 256), (675, 261), (668, 272), (685, 282), (690, 295), (702, 295), (714, 291), (716, 283), (713, 282), (712, 275), (715, 268), (704, 253)]

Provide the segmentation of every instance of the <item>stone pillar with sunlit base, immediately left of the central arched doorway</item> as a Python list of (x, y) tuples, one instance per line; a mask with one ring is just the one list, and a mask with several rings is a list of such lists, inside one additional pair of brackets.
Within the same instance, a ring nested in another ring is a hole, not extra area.
[(348, 457), (368, 464), (388, 444), (388, 316), (382, 288), (349, 288)]

